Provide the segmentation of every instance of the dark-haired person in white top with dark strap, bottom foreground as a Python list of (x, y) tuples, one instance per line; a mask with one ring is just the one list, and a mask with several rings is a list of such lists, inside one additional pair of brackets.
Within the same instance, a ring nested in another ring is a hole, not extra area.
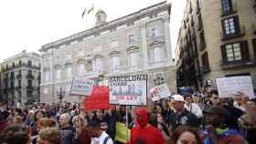
[(111, 137), (101, 129), (96, 120), (92, 120), (87, 126), (91, 137), (91, 144), (113, 144)]

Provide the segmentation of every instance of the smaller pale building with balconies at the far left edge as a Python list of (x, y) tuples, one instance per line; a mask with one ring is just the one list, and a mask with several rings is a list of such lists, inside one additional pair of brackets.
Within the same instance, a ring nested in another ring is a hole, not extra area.
[(40, 55), (23, 51), (1, 63), (3, 100), (9, 106), (32, 104), (40, 95)]

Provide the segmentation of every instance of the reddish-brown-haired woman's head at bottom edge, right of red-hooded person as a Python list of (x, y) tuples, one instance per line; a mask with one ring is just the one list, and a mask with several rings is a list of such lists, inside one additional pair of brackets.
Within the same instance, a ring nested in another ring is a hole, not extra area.
[(179, 126), (172, 134), (171, 144), (203, 144), (199, 135), (197, 134), (197, 129)]

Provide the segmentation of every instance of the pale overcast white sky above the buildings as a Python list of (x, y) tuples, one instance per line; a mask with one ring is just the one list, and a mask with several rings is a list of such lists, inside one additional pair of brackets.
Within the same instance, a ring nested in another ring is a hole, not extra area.
[[(107, 21), (129, 15), (164, 0), (6, 0), (0, 1), (0, 62), (23, 50), (38, 52), (41, 46), (84, 31), (94, 16), (82, 18), (94, 5), (108, 15)], [(172, 5), (171, 43), (176, 46), (186, 0), (168, 0)]]

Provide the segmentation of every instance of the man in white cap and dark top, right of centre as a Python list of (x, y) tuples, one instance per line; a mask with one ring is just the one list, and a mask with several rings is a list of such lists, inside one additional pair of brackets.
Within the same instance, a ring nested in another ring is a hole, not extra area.
[(174, 95), (171, 98), (171, 107), (174, 113), (169, 116), (168, 125), (172, 130), (180, 125), (198, 126), (198, 119), (192, 112), (185, 108), (185, 99), (181, 95)]

